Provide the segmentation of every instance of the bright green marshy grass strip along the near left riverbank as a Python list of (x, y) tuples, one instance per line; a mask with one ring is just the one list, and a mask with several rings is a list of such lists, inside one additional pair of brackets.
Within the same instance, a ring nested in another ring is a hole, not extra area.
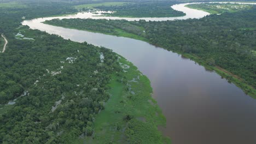
[(170, 143), (158, 131), (166, 119), (151, 96), (148, 78), (123, 57), (119, 62), (126, 72), (112, 76), (111, 96), (95, 118), (93, 136), (75, 143)]

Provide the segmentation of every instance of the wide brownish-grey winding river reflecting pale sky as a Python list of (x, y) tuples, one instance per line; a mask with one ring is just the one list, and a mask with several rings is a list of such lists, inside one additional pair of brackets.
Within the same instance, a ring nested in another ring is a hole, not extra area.
[[(188, 4), (188, 3), (186, 3)], [(151, 81), (153, 97), (158, 101), (167, 119), (166, 128), (160, 128), (172, 143), (256, 143), (256, 100), (213, 71), (177, 53), (169, 52), (144, 41), (112, 35), (78, 31), (41, 22), (51, 19), (126, 19), (165, 21), (200, 19), (208, 13), (173, 5), (186, 16), (164, 18), (120, 18), (78, 13), (71, 16), (45, 17), (26, 20), (22, 25), (57, 34), (65, 39), (104, 46), (135, 64)]]

